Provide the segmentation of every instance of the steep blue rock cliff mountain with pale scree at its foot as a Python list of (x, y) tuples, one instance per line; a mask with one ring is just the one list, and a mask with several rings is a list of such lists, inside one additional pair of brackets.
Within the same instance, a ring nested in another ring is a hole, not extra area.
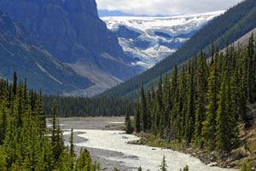
[(71, 94), (101, 92), (139, 71), (100, 20), (95, 0), (1, 0), (0, 7), (50, 54), (96, 84)]

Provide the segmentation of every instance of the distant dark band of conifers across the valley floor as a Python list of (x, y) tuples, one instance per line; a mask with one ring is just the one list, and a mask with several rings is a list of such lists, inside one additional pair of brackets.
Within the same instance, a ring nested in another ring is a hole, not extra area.
[[(50, 113), (56, 100), (58, 117), (119, 117), (125, 113), (126, 105), (133, 113), (135, 102), (123, 98), (86, 98), (44, 95), (44, 111)], [(50, 117), (46, 115), (46, 117)]]

